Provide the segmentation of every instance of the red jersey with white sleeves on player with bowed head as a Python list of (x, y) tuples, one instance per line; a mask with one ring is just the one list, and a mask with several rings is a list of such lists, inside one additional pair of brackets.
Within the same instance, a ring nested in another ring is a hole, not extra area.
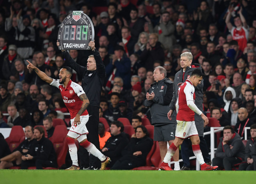
[(190, 80), (186, 80), (179, 88), (178, 91), (178, 114), (176, 120), (179, 121), (194, 121), (195, 120), (195, 112), (192, 111), (188, 105), (187, 101), (192, 100), (195, 102), (195, 88)]

